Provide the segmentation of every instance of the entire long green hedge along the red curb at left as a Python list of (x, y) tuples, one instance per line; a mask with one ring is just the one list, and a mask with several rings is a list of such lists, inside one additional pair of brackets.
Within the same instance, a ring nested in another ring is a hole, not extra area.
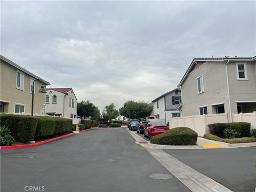
[(1, 125), (9, 127), (11, 135), (23, 142), (72, 131), (72, 120), (58, 117), (1, 114)]

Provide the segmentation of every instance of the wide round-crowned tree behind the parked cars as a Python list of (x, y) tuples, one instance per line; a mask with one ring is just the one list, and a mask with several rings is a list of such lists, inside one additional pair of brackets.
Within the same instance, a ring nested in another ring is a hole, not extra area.
[(153, 107), (150, 107), (146, 102), (143, 101), (127, 101), (124, 106), (119, 109), (120, 115), (125, 118), (146, 118), (153, 111)]

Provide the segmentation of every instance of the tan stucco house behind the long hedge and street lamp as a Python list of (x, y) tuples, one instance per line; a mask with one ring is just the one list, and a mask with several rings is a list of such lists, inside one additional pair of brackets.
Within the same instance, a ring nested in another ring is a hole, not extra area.
[(38, 93), (43, 84), (49, 82), (22, 68), (13, 61), (0, 55), (1, 89), (0, 113), (31, 114), (33, 82), (34, 114), (45, 115), (45, 93)]

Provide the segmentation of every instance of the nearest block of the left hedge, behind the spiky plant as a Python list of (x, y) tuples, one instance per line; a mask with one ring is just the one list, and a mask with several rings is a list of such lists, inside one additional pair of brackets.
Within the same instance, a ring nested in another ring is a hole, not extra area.
[(25, 115), (1, 114), (1, 125), (8, 126), (15, 140), (34, 140), (38, 119)]

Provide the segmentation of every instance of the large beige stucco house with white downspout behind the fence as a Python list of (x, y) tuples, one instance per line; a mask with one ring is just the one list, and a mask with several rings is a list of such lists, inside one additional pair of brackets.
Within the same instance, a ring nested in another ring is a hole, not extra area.
[(178, 87), (182, 116), (256, 111), (256, 56), (194, 58)]

